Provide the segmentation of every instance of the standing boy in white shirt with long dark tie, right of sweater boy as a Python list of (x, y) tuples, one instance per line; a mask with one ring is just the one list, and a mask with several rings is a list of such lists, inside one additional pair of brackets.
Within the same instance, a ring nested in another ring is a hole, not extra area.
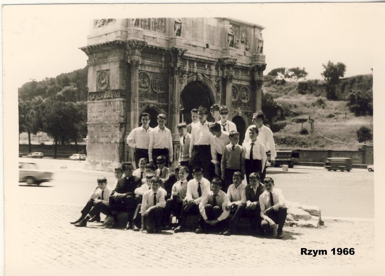
[(249, 175), (252, 172), (262, 174), (263, 168), (266, 164), (266, 149), (263, 144), (257, 141), (258, 129), (251, 127), (249, 130), (250, 140), (243, 142), (242, 147), (244, 151), (244, 170), (246, 173), (247, 184), (250, 183)]

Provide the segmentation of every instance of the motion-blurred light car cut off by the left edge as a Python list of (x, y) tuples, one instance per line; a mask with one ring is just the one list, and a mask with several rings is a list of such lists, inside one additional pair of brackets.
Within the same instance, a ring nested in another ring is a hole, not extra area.
[(36, 163), (19, 162), (19, 182), (39, 185), (41, 182), (51, 181), (52, 174), (52, 172), (40, 170)]

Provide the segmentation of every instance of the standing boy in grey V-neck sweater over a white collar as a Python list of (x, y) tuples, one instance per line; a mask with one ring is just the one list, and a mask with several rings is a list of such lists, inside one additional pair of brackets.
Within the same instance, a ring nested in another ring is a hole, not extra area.
[(239, 133), (233, 130), (230, 132), (229, 138), (230, 144), (224, 148), (221, 162), (222, 179), (226, 182), (224, 192), (227, 192), (227, 188), (233, 182), (234, 172), (241, 172), (242, 179), (244, 176), (244, 151), (238, 145)]

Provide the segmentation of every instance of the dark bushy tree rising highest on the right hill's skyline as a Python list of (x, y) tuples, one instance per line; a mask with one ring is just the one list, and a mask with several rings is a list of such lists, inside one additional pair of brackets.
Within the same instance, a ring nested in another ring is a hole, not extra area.
[(346, 65), (338, 62), (334, 64), (329, 60), (328, 64), (322, 64), (325, 71), (321, 73), (324, 79), (328, 82), (328, 86), (326, 87), (326, 94), (329, 100), (336, 99), (336, 85), (340, 81), (340, 77), (342, 78), (345, 74)]

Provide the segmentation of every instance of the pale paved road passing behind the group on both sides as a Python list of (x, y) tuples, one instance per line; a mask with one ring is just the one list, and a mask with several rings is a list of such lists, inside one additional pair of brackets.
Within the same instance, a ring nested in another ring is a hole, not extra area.
[[(19, 160), (32, 161), (27, 158)], [(96, 187), (99, 175), (107, 177), (111, 186), (115, 182), (112, 172), (82, 171), (85, 161), (33, 161), (40, 168), (53, 171), (54, 179), (40, 186), (28, 187), (19, 183), (20, 202), (84, 204), (90, 191)], [(60, 169), (62, 165), (67, 168)], [(273, 177), (276, 187), (283, 190), (286, 200), (319, 206), (322, 216), (374, 217), (374, 174), (365, 169), (329, 172), (321, 167), (298, 166), (289, 172), (269, 168), (267, 175)]]

